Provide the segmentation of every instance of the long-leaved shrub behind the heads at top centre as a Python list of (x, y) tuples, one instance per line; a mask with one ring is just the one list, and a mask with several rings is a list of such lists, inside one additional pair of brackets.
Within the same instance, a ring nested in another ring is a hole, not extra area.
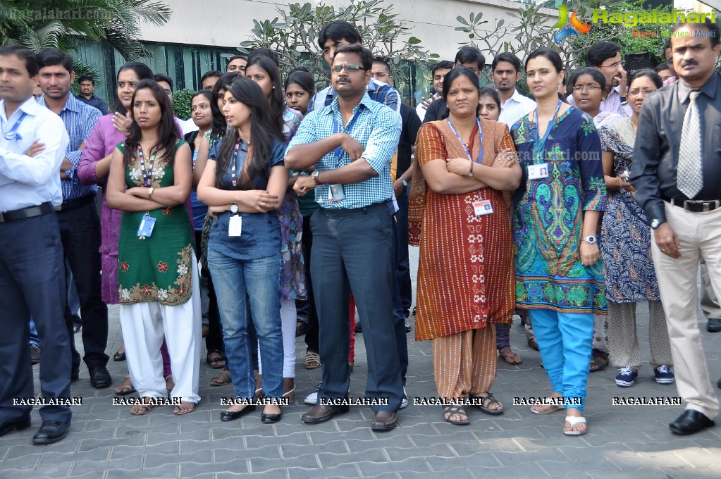
[[(394, 73), (401, 60), (432, 61), (438, 55), (421, 46), (421, 40), (410, 35), (402, 19), (393, 13), (393, 5), (384, 0), (350, 0), (348, 6), (288, 4), (278, 7), (280, 17), (254, 19), (251, 40), (240, 42), (238, 50), (248, 53), (254, 48), (272, 48), (280, 55), (281, 68), (287, 73), (296, 66), (310, 68), (316, 78), (328, 77), (329, 69), (317, 44), (318, 33), (333, 20), (346, 20), (358, 28), (363, 45), (373, 55), (389, 58)], [(324, 81), (321, 80), (321, 84)]]

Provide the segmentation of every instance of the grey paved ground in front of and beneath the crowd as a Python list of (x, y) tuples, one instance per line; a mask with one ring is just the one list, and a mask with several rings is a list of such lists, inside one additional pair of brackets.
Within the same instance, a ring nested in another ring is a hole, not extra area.
[[(417, 263), (417, 249), (412, 249)], [(645, 305), (644, 305), (645, 306)], [(111, 307), (108, 352), (120, 343), (117, 307)], [(700, 316), (699, 316), (700, 318)], [(702, 320), (699, 319), (699, 324)], [(647, 309), (642, 306), (639, 336), (647, 359)], [(702, 326), (705, 325), (702, 324)], [(76, 336), (79, 339), (79, 336)], [(362, 335), (356, 336), (355, 372), (351, 395), (362, 396), (367, 367)], [(712, 379), (721, 375), (721, 333), (702, 333)], [(632, 388), (614, 383), (607, 369), (590, 375), (588, 434), (565, 437), (563, 413), (537, 416), (528, 406), (512, 406), (514, 397), (549, 393), (539, 354), (526, 345), (518, 321), (511, 343), (523, 364), (499, 362), (493, 393), (505, 404), (503, 416), (469, 411), (469, 426), (443, 421), (440, 406), (409, 406), (399, 413), (399, 427), (386, 433), (370, 429), (371, 411), (353, 407), (325, 424), (302, 424), (302, 403), (319, 382), (320, 370), (302, 367), (305, 352), (298, 338), (297, 398), (274, 425), (260, 423), (260, 412), (224, 423), (218, 413), (231, 386), (211, 388), (216, 372), (203, 367), (203, 403), (188, 416), (173, 416), (169, 406), (135, 417), (128, 406), (112, 406), (112, 388), (95, 390), (87, 370), (81, 370), (72, 393), (82, 397), (73, 408), (71, 433), (49, 446), (33, 446), (40, 425), (37, 412), (32, 428), (0, 438), (0, 478), (546, 478), (599, 479), (720, 478), (721, 426), (687, 437), (672, 435), (668, 423), (683, 406), (613, 406), (614, 397), (676, 396), (675, 385), (659, 385), (645, 365)], [(409, 335), (411, 398), (433, 397), (430, 343)], [(203, 360), (205, 358), (203, 352)], [(203, 364), (205, 364), (203, 362)], [(115, 385), (123, 380), (124, 362), (109, 364)], [(36, 393), (40, 387), (35, 367)]]

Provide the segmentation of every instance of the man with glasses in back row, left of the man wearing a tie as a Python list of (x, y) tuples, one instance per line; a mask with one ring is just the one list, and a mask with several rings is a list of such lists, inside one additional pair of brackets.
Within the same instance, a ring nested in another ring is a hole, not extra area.
[[(606, 99), (601, 102), (601, 112), (616, 113), (629, 117), (632, 109), (626, 103), (626, 71), (625, 61), (621, 59), (621, 47), (614, 42), (597, 42), (586, 52), (586, 66), (592, 66), (603, 73), (607, 88), (610, 88)], [(568, 104), (576, 106), (573, 95), (568, 95)]]

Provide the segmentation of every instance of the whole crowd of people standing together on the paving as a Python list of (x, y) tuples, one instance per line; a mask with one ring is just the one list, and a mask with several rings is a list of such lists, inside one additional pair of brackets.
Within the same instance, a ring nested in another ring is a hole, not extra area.
[[(278, 422), (305, 335), (303, 366), (322, 382), (301, 420), (328, 421), (349, 409), (362, 331), (371, 429), (394, 429), (408, 404), (409, 245), (415, 339), (432, 341), (449, 423), (469, 424), (466, 406), (504, 413), (491, 389), (499, 359), (522, 362), (518, 313), (550, 383), (531, 412), (563, 409), (564, 434), (585, 434), (589, 373), (610, 361), (620, 387), (638, 377), (648, 302), (653, 375), (687, 403), (671, 431), (712, 426), (696, 277), (700, 263), (707, 329), (720, 331), (719, 28), (673, 31), (666, 63), (628, 77), (614, 42), (592, 45), (568, 79), (552, 49), (523, 68), (498, 53), (495, 89), (479, 87), (485, 56), (466, 46), (435, 63), (414, 109), (389, 62), (331, 22), (317, 40), (327, 88), (302, 68), (283, 82), (277, 53), (259, 48), (203, 75), (192, 124), (174, 117), (172, 79), (144, 63), (120, 68), (108, 109), (92, 78), (70, 93), (61, 50), (0, 47), (0, 436), (30, 427), (17, 399), (34, 396), (38, 344), (35, 444), (68, 434), (81, 359), (94, 388), (111, 385), (109, 304), (123, 333), (113, 359), (128, 365), (115, 393), (137, 393), (133, 415), (195, 411), (205, 337), (221, 370), (210, 385), (234, 388), (221, 421), (262, 406), (262, 423)], [(532, 99), (516, 88), (523, 71)]]

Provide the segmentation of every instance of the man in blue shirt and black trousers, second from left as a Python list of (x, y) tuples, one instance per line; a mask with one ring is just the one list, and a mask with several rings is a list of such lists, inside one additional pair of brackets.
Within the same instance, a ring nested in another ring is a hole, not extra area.
[[(95, 209), (97, 187), (80, 183), (75, 172), (85, 140), (100, 118), (100, 111), (70, 94), (75, 78), (73, 59), (57, 48), (45, 48), (37, 54), (40, 88), (37, 102), (60, 115), (70, 137), (58, 174), (63, 189), (63, 204), (56, 207), (66, 265), (69, 264), (80, 298), (84, 361), (93, 388), (107, 388), (112, 381), (107, 371), (107, 305), (100, 292), (100, 221)], [(80, 369), (80, 354), (75, 348), (72, 312), (66, 308), (66, 324), (73, 355), (72, 378)]]

